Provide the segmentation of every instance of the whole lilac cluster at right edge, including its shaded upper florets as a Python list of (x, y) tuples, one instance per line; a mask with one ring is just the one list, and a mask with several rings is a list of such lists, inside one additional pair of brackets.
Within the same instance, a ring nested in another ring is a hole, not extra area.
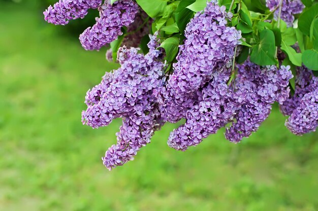
[(290, 116), (285, 125), (294, 134), (315, 131), (318, 126), (318, 78), (306, 67), (296, 70), (295, 93), (280, 106), (280, 111)]

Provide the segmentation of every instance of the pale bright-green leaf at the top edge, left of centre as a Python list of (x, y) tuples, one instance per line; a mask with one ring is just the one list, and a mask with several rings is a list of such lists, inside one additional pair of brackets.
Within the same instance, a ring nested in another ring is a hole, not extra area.
[(168, 3), (164, 0), (136, 0), (136, 2), (151, 18), (164, 14)]

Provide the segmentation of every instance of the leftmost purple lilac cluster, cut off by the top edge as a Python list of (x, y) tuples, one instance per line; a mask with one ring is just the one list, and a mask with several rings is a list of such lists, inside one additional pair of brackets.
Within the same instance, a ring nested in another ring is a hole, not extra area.
[(59, 0), (43, 12), (45, 20), (55, 25), (66, 25), (69, 20), (84, 18), (88, 9), (97, 9), (102, 0)]

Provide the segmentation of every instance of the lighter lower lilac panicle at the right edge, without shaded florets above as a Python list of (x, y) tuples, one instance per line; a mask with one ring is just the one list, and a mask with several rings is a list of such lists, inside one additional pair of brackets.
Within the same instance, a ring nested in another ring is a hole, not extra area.
[(318, 127), (318, 90), (315, 89), (301, 99), (285, 125), (296, 135), (315, 131)]

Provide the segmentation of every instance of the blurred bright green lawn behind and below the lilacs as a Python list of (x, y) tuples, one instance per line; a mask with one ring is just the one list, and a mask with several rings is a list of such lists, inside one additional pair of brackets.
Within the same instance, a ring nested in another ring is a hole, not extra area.
[(318, 133), (291, 134), (277, 107), (238, 145), (220, 131), (177, 152), (168, 124), (108, 171), (121, 122), (93, 130), (81, 111), (116, 64), (42, 17), (0, 2), (0, 210), (318, 210)]

